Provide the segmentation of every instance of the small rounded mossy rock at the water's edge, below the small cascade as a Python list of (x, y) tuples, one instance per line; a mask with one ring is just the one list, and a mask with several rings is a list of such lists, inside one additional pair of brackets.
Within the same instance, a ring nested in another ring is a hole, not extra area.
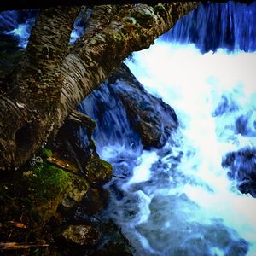
[(85, 166), (86, 178), (92, 184), (102, 185), (108, 183), (113, 176), (113, 166), (108, 162), (92, 156)]

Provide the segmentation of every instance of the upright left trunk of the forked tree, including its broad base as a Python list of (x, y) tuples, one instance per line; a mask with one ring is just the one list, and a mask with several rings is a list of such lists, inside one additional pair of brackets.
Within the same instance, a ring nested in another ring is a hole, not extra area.
[[(45, 9), (0, 101), (0, 168), (20, 166), (46, 141), (61, 97), (58, 70), (79, 8)], [(8, 132), (7, 132), (8, 131)]]

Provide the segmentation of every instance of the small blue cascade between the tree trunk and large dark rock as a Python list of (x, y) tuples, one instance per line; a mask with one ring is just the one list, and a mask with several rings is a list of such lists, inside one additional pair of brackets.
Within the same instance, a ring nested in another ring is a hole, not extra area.
[[(123, 103), (115, 96), (108, 84), (103, 83), (98, 90), (93, 91), (80, 104), (79, 111), (86, 113), (96, 121), (94, 139), (97, 150), (102, 153), (103, 158), (105, 158), (104, 154), (111, 154), (112, 156), (117, 154), (120, 157), (121, 150), (124, 150), (124, 154), (127, 151), (131, 155), (135, 154), (135, 159), (141, 154), (140, 137), (132, 128)], [(81, 131), (81, 137), (86, 145), (88, 143), (86, 131)]]

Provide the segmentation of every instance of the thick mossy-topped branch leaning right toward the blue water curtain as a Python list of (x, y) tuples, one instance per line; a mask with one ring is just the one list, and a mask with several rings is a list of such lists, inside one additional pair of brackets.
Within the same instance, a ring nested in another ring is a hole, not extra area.
[(125, 5), (109, 25), (93, 37), (84, 34), (61, 67), (63, 87), (59, 125), (132, 51), (154, 44), (155, 38), (168, 31), (196, 5), (192, 2), (160, 3), (154, 7)]

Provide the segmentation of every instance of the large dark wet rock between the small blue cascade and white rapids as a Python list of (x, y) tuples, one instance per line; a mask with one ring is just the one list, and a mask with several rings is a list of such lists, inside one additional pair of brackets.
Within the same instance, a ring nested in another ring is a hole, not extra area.
[(125, 64), (108, 81), (113, 94), (123, 102), (131, 125), (140, 134), (145, 148), (162, 148), (178, 126), (174, 110), (144, 90)]

